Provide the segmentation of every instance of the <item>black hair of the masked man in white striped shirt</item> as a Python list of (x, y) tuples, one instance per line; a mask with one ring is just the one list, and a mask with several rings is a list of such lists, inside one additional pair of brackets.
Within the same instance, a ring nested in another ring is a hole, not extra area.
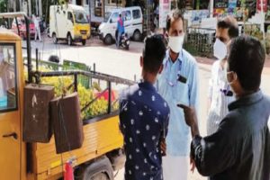
[(228, 29), (230, 39), (238, 37), (238, 25), (235, 24), (233, 21), (220, 20), (218, 22), (218, 28)]

